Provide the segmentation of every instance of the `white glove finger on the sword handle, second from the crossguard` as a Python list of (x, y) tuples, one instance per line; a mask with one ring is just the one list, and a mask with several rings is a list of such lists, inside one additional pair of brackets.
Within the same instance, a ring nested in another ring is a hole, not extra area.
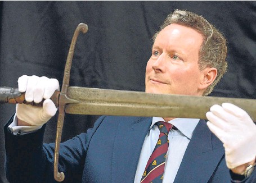
[(47, 86), (48, 77), (39, 77), (37, 84), (34, 86), (34, 102), (39, 103), (43, 100), (44, 90)]

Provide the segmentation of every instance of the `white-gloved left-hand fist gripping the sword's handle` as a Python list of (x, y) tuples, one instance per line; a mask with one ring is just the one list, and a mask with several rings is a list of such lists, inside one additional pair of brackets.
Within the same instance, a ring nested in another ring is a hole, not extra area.
[(55, 90), (59, 90), (59, 81), (48, 77), (26, 76), (18, 79), (19, 92), (26, 92), (25, 99), (28, 102), (34, 100), (39, 103), (42, 99), (43, 107), (35, 107), (29, 104), (17, 104), (16, 116), (30, 125), (41, 126), (55, 115), (57, 108), (50, 99)]

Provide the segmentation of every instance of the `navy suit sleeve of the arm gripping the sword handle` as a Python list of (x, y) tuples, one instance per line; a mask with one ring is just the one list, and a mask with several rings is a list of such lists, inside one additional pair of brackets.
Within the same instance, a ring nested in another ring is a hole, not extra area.
[[(60, 144), (59, 172), (65, 173), (64, 182), (80, 182), (86, 152), (92, 135), (102, 120), (100, 117), (93, 129)], [(6, 177), (10, 182), (56, 182), (53, 177), (55, 144), (43, 144), (46, 125), (25, 134), (13, 135), (5, 125)]]

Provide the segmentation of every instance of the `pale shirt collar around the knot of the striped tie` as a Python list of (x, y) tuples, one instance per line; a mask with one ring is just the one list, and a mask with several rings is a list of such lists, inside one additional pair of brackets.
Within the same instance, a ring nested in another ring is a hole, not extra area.
[[(155, 125), (158, 121), (164, 121), (162, 117), (153, 117), (150, 129)], [(182, 132), (188, 139), (192, 138), (193, 131), (199, 119), (195, 118), (174, 118), (173, 120), (168, 121), (168, 123), (172, 123), (179, 131)]]

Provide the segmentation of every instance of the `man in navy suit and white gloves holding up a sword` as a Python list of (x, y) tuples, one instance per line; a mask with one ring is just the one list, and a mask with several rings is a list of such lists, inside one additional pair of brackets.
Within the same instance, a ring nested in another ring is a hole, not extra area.
[[(153, 39), (147, 93), (208, 95), (226, 71), (226, 40), (194, 13), (174, 11)], [(43, 107), (17, 104), (16, 115), (5, 126), (7, 179), (54, 182), (54, 144), (42, 145), (42, 140), (44, 123), (57, 111), (49, 98), (59, 83), (37, 76), (22, 76), (18, 83), (26, 100), (46, 100)], [(256, 126), (251, 118), (228, 103), (214, 105), (206, 116), (221, 141), (204, 120), (102, 116), (86, 134), (61, 144), (59, 171), (66, 182), (256, 182)], [(165, 132), (168, 139), (156, 126), (159, 122), (161, 127), (172, 124)], [(161, 145), (160, 136), (169, 142), (166, 159), (158, 165), (158, 157), (151, 156), (155, 144)]]

